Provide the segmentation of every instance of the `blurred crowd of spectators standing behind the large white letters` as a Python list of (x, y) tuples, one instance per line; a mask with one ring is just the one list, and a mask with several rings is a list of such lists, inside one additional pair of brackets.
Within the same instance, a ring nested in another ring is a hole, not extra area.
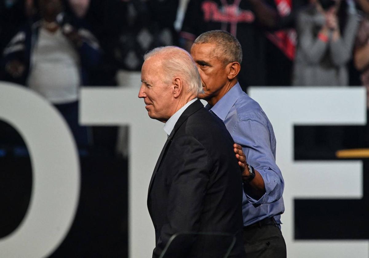
[(213, 29), (241, 43), (244, 91), (369, 88), (369, 0), (0, 0), (0, 80), (44, 96), (89, 146), (80, 86), (124, 86), (117, 73), (140, 71), (146, 51), (189, 50)]

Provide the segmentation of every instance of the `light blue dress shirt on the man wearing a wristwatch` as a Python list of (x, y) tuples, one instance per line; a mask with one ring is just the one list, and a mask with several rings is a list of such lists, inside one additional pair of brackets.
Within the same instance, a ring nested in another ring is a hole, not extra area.
[(276, 161), (276, 139), (272, 124), (264, 111), (244, 93), (237, 83), (214, 107), (206, 108), (223, 120), (235, 143), (242, 146), (246, 161), (263, 177), (265, 194), (255, 200), (244, 192), (242, 214), (244, 226), (268, 217), (280, 224), (284, 212), (282, 198), (284, 181)]

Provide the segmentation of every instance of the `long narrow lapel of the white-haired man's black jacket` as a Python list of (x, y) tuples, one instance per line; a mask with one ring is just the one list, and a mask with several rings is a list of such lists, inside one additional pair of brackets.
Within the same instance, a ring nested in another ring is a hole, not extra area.
[(204, 105), (201, 103), (201, 101), (196, 100), (191, 105), (189, 105), (188, 108), (186, 108), (186, 110), (182, 113), (182, 115), (179, 117), (178, 121), (176, 122), (176, 124), (175, 124), (175, 126), (172, 130), (172, 133), (170, 133), (168, 139), (166, 140), (166, 142), (164, 144), (164, 147), (163, 147), (163, 149), (162, 149), (162, 151), (159, 155), (158, 161), (156, 161), (154, 172), (152, 173), (150, 184), (149, 184), (148, 202), (149, 202), (150, 191), (151, 191), (152, 183), (154, 182), (156, 171), (158, 171), (158, 168), (159, 168), (160, 163), (163, 159), (164, 153), (165, 153), (166, 149), (168, 148), (169, 142), (172, 141), (173, 136), (175, 135), (177, 130), (180, 128), (180, 126), (183, 124), (183, 122), (186, 121), (187, 118), (189, 118), (190, 115), (192, 115), (194, 112), (198, 111), (200, 108), (203, 108), (203, 107), (204, 107)]

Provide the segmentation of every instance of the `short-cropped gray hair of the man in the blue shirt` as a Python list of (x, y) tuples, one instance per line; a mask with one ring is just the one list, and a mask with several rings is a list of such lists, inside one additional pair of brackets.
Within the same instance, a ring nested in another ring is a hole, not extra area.
[(241, 44), (227, 31), (214, 30), (207, 31), (195, 39), (194, 44), (214, 43), (217, 49), (220, 50), (221, 56), (225, 64), (231, 62), (242, 63), (242, 48)]

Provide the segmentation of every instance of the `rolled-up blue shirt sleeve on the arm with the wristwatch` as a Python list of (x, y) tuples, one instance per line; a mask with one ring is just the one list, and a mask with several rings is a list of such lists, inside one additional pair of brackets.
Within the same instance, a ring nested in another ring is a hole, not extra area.
[(264, 203), (278, 201), (282, 197), (284, 181), (282, 173), (276, 164), (275, 137), (270, 135), (267, 121), (258, 114), (250, 115), (238, 120), (234, 128), (234, 141), (242, 146), (246, 162), (257, 170), (265, 184), (265, 194), (258, 200), (248, 195), (247, 187), (244, 187), (245, 195), (250, 203), (259, 206)]

